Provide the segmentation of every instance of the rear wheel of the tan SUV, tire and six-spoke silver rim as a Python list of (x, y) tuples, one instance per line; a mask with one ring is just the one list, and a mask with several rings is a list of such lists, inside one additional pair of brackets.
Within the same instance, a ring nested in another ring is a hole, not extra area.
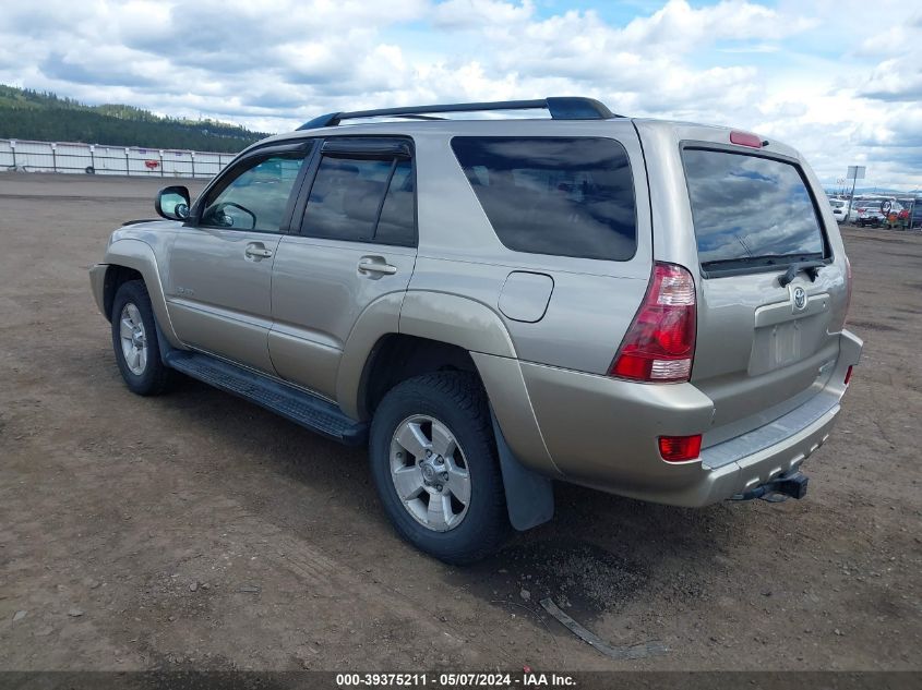
[(396, 386), (374, 413), (369, 445), (379, 497), (406, 541), (458, 565), (499, 548), (510, 523), (476, 376), (441, 372)]

